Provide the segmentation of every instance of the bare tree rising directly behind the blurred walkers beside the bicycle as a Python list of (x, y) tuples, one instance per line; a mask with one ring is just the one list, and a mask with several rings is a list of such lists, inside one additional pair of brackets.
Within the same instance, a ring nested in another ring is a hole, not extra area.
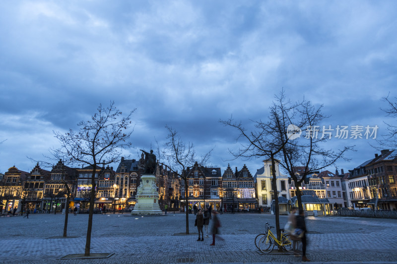
[[(285, 143), (278, 158), (282, 160), (280, 165), (294, 181), (299, 210), (303, 209), (300, 187), (307, 176), (331, 166), (338, 160), (348, 160), (344, 155), (347, 151), (353, 150), (353, 146), (345, 146), (341, 149), (325, 148), (326, 143), (331, 140), (331, 134), (325, 136), (323, 133), (320, 137), (318, 133), (321, 123), (328, 118), (322, 113), (322, 108), (323, 105), (313, 106), (311, 102), (303, 102), (297, 108), (296, 118), (279, 118), (280, 122), (275, 126), (280, 143)], [(288, 115), (284, 116), (288, 117)], [(289, 140), (292, 134), (288, 131), (288, 126), (294, 124), (292, 122), (299, 124), (295, 127), (303, 128), (302, 131), (306, 132), (304, 137)], [(324, 126), (324, 128), (330, 127)], [(295, 170), (298, 166), (303, 167), (303, 172), (299, 175)]]

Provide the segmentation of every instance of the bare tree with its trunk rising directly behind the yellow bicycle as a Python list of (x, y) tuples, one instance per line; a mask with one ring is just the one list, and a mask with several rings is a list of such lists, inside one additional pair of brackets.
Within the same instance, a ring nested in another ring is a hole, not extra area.
[[(240, 142), (240, 148), (238, 150), (229, 149), (229, 153), (234, 157), (234, 159), (250, 159), (260, 157), (266, 157), (267, 159), (270, 159), (272, 168), (271, 183), (275, 194), (274, 214), (278, 239), (281, 237), (281, 232), (279, 223), (275, 159), (288, 143), (288, 138), (285, 141), (280, 140), (276, 127), (280, 122), (282, 122), (282, 120), (289, 120), (293, 118), (297, 113), (297, 108), (299, 106), (301, 106), (301, 103), (291, 103), (290, 101), (286, 101), (284, 91), (282, 91), (280, 96), (275, 97), (275, 102), (273, 102), (272, 106), (269, 107), (270, 114), (268, 116), (268, 121), (252, 121), (255, 127), (255, 129), (252, 131), (246, 129), (241, 122), (236, 122), (233, 120), (232, 117), (227, 120), (219, 121), (224, 126), (230, 126), (238, 131), (236, 141)], [(281, 250), (281, 248), (279, 250)]]

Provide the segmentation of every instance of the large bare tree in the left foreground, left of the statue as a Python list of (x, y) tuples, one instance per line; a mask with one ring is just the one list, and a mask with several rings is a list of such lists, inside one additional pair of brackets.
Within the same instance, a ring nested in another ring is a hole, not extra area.
[(110, 106), (99, 105), (97, 112), (88, 121), (80, 121), (78, 131), (69, 129), (67, 133), (54, 132), (60, 141), (61, 147), (53, 149), (54, 157), (65, 158), (65, 161), (78, 165), (91, 165), (91, 197), (88, 216), (88, 228), (84, 256), (90, 255), (92, 215), (95, 201), (95, 174), (97, 164), (117, 162), (122, 150), (131, 147), (127, 140), (130, 138), (133, 127), (131, 122), (133, 109), (123, 117), (114, 102)]

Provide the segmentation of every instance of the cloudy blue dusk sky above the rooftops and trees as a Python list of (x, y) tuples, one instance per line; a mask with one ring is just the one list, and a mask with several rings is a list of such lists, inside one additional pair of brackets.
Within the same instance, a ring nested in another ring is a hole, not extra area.
[[(236, 131), (266, 120), (274, 95), (324, 105), (324, 124), (377, 125), (382, 98), (396, 97), (396, 1), (1, 1), (0, 172), (30, 172), (58, 147), (53, 131), (78, 129), (99, 104), (132, 116), (139, 158), (176, 129), (211, 165), (230, 160)], [(334, 134), (335, 135), (335, 134)], [(332, 138), (355, 146), (345, 172), (374, 157), (373, 138)], [(117, 167), (117, 164), (115, 164)], [(334, 167), (330, 168), (334, 171)]]

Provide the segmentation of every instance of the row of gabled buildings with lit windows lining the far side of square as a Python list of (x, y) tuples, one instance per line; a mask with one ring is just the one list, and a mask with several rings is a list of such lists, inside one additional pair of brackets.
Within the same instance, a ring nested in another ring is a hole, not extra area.
[[(219, 167), (203, 167), (199, 164), (188, 168), (186, 193), (185, 181), (174, 175), (166, 166), (157, 163), (156, 185), (159, 205), (169, 210), (184, 210), (186, 196), (189, 205), (223, 211), (266, 211), (273, 206), (275, 195), (279, 197), (282, 211), (296, 204), (294, 182), (282, 175), (276, 162), (277, 194), (271, 184), (271, 162), (254, 175), (246, 165), (233, 170), (228, 164), (222, 173)], [(122, 158), (117, 169), (109, 166), (96, 168), (95, 208), (108, 210), (132, 209), (135, 195), (144, 171), (144, 156), (135, 159)], [(304, 167), (294, 167), (295, 174), (303, 174)], [(61, 211), (66, 203), (66, 185), (70, 190), (69, 208), (84, 210), (88, 207), (91, 190), (92, 167), (70, 168), (62, 160), (51, 171), (38, 164), (30, 171), (20, 171), (15, 166), (0, 179), (0, 207), (4, 211), (22, 204), (31, 210)], [(302, 183), (302, 201), (307, 211), (331, 214), (338, 208), (374, 207), (393, 210), (397, 208), (395, 175), (397, 175), (396, 151), (382, 151), (375, 158), (360, 166), (339, 174), (330, 171), (311, 173)], [(1, 177), (1, 176), (0, 176)], [(295, 198), (294, 198), (295, 197)]]

